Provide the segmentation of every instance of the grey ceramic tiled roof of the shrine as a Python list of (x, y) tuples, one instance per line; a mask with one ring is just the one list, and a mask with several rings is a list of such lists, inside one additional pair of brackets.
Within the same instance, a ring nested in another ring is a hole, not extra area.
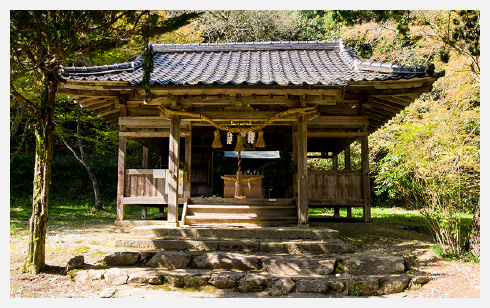
[[(427, 76), (425, 66), (360, 61), (340, 41), (152, 45), (153, 85), (322, 85)], [(65, 80), (138, 85), (141, 58), (93, 67), (62, 67)]]

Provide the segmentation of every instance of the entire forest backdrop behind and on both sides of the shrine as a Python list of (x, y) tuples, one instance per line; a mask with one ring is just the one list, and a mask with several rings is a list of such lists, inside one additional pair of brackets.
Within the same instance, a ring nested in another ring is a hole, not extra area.
[[(431, 92), (370, 136), (372, 205), (417, 209), (445, 253), (479, 256), (479, 22), (479, 11), (204, 11), (152, 43), (342, 38), (362, 60), (433, 63), (436, 71), (444, 70)], [(79, 54), (65, 65), (131, 61), (143, 47), (134, 41), (110, 52)], [(39, 95), (36, 74), (14, 82), (23, 95)], [(118, 131), (68, 97), (56, 99), (50, 200), (114, 210)], [(34, 125), (33, 115), (11, 96), (11, 207), (32, 206)], [(140, 147), (130, 143), (127, 151), (128, 166), (139, 166)], [(308, 163), (312, 169), (328, 167), (324, 160)], [(473, 226), (464, 229), (461, 215), (468, 213)]]

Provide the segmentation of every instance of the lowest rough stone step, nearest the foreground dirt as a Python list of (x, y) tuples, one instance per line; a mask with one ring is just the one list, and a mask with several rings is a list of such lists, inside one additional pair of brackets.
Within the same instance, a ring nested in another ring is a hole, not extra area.
[(273, 296), (289, 293), (330, 293), (340, 296), (373, 296), (403, 292), (415, 283), (407, 274), (375, 276), (329, 275), (285, 276), (257, 271), (209, 269), (121, 268), (70, 271), (72, 279), (82, 285), (104, 289), (101, 297), (113, 297), (123, 286), (166, 285), (171, 289), (200, 289), (212, 286), (235, 292), (266, 291)]

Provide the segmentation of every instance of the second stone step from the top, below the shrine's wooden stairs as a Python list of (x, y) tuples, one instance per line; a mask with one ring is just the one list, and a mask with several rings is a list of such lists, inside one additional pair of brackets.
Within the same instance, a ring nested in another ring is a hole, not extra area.
[(163, 249), (186, 251), (236, 251), (290, 254), (333, 254), (352, 253), (355, 247), (338, 239), (328, 241), (272, 241), (244, 239), (189, 240), (184, 238), (130, 238), (118, 239), (117, 248)]

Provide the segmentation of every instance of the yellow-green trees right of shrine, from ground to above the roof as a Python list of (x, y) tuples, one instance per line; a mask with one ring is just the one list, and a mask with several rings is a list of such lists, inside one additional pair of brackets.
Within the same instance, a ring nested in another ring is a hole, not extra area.
[[(446, 71), (370, 138), (375, 197), (420, 209), (445, 253), (464, 253), (464, 238), (478, 246), (479, 11), (335, 11), (332, 18), (362, 58)], [(474, 236), (461, 229), (462, 212), (474, 213)]]

